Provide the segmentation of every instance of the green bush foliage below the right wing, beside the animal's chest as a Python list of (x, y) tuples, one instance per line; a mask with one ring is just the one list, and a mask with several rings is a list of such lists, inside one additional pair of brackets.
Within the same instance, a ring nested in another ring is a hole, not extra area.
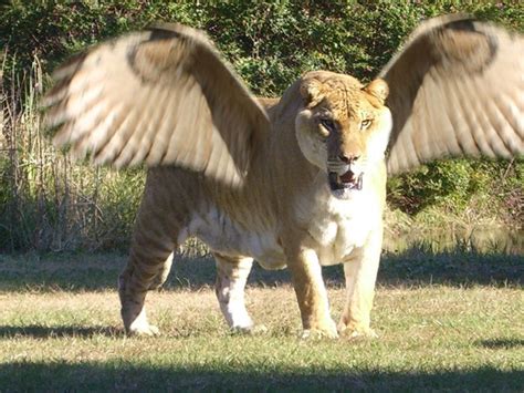
[[(455, 215), (473, 207), (479, 218), (491, 218), (493, 214), (504, 214), (504, 201), (511, 195), (516, 199), (524, 196), (523, 169), (522, 159), (436, 162), (390, 179), (388, 198), (392, 206), (411, 215), (430, 206), (437, 207), (439, 213)], [(516, 199), (514, 214), (522, 215), (524, 206)]]

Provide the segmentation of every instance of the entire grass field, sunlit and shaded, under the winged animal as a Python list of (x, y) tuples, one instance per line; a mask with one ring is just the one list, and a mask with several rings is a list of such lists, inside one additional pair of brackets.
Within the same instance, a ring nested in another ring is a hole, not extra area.
[[(302, 341), (286, 271), (247, 292), (262, 335), (231, 334), (209, 258), (180, 258), (148, 297), (159, 338), (126, 338), (120, 255), (0, 256), (0, 391), (523, 391), (524, 260), (415, 250), (382, 258), (377, 340)], [(325, 269), (333, 314), (339, 267)]]

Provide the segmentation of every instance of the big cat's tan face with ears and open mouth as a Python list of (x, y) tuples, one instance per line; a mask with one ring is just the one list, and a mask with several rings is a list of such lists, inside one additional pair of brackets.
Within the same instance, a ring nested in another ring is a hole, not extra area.
[(338, 198), (360, 190), (366, 172), (384, 159), (392, 125), (387, 94), (382, 80), (363, 86), (352, 76), (323, 71), (303, 79), (296, 138), (304, 156), (326, 172)]

